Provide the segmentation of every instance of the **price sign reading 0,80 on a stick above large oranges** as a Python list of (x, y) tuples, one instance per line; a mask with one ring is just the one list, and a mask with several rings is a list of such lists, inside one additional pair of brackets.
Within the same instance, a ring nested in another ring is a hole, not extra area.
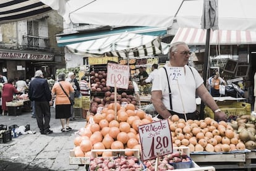
[(108, 74), (106, 78), (107, 86), (127, 89), (129, 86), (130, 67), (128, 65), (108, 64)]

